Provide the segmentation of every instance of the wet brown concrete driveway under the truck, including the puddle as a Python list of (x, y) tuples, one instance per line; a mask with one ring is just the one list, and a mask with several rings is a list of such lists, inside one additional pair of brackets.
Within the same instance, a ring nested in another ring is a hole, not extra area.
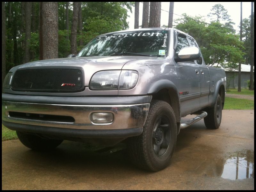
[(223, 110), (218, 130), (202, 120), (182, 129), (162, 171), (139, 170), (127, 159), (122, 144), (64, 141), (52, 152), (37, 152), (19, 140), (3, 141), (2, 189), (253, 190), (254, 110)]

